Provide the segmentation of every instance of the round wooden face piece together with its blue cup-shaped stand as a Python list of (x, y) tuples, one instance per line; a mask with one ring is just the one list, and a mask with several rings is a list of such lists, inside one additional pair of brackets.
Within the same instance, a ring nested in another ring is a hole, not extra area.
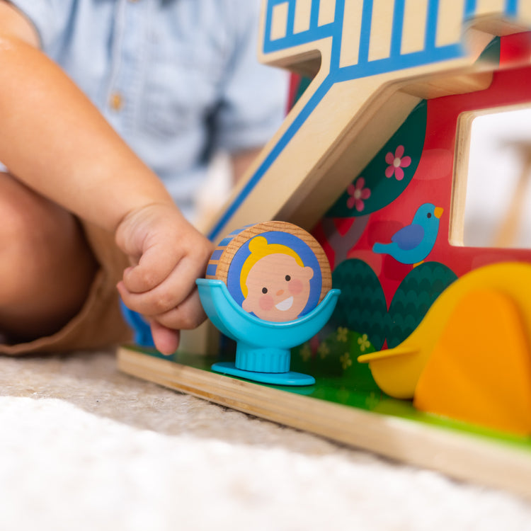
[(206, 277), (197, 283), (207, 316), (236, 341), (236, 361), (212, 370), (266, 384), (315, 383), (290, 371), (290, 349), (326, 324), (339, 292), (310, 234), (285, 222), (244, 227), (219, 243)]

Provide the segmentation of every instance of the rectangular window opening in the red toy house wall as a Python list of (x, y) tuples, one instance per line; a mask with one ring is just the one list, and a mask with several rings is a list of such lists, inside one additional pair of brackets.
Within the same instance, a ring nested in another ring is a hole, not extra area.
[(531, 248), (531, 106), (459, 117), (450, 244)]

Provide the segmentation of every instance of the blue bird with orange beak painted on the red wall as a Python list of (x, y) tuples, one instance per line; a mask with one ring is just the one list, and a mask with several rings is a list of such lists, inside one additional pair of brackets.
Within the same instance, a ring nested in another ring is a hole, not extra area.
[(390, 244), (374, 244), (372, 251), (389, 254), (401, 263), (418, 265), (435, 245), (443, 209), (426, 202), (418, 207), (413, 221), (391, 236)]

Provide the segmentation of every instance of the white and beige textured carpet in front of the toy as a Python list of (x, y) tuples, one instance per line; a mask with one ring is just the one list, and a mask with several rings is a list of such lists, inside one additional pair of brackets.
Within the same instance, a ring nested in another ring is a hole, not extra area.
[(0, 358), (0, 382), (0, 531), (531, 530), (508, 493), (133, 379), (113, 353)]

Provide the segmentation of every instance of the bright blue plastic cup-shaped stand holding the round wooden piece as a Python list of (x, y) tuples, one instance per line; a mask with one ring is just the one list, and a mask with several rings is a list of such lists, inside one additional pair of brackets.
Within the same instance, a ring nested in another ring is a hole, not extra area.
[(312, 385), (312, 376), (290, 371), (290, 349), (312, 338), (330, 319), (339, 290), (295, 321), (263, 321), (242, 309), (222, 280), (196, 280), (207, 316), (225, 336), (236, 341), (236, 361), (212, 365), (212, 370), (275, 385)]

